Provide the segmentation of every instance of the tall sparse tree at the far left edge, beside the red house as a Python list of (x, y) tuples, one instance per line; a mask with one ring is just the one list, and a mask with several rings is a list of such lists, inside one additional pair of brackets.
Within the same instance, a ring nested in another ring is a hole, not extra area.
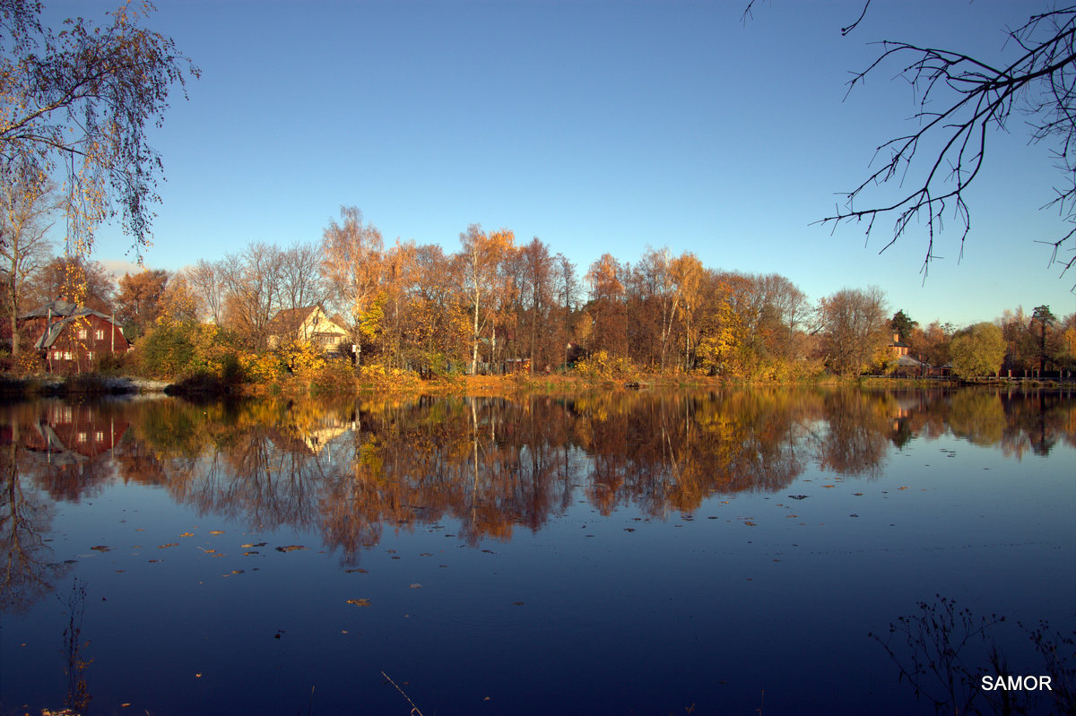
[(18, 364), (23, 292), (29, 276), (52, 256), (46, 234), (56, 209), (53, 185), (36, 168), (11, 168), (5, 181), (0, 182), (0, 275), (6, 292), (13, 366)]

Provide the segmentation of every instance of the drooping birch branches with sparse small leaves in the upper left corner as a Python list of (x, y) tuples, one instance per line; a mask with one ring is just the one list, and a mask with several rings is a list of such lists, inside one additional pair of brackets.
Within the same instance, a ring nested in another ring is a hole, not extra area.
[(40, 2), (4, 0), (0, 11), (0, 183), (16, 167), (61, 172), (75, 256), (117, 214), (141, 249), (161, 173), (147, 126), (161, 124), (169, 91), (198, 69), (171, 39), (140, 27), (130, 4), (102, 25), (68, 19), (60, 32), (42, 23)]

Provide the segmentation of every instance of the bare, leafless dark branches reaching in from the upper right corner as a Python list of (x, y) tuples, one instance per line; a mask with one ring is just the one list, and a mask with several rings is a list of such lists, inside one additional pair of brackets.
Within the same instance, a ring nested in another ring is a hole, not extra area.
[[(750, 16), (755, 0), (750, 0), (745, 17)], [(860, 24), (870, 0), (864, 0), (859, 17), (848, 27), (848, 34)], [(1046, 143), (1054, 166), (1061, 172), (1053, 194), (1044, 202), (1059, 215), (1076, 223), (1076, 6), (1046, 10), (1031, 15), (1015, 29), (1006, 29), (1007, 42), (996, 61), (972, 57), (953, 49), (922, 46), (910, 42), (883, 41), (881, 53), (865, 69), (854, 72), (849, 91), (868, 76), (896, 74), (915, 90), (918, 108), (912, 119), (916, 129), (908, 134), (882, 142), (876, 157), (877, 168), (855, 188), (843, 192), (846, 203), (820, 224), (838, 225), (865, 221), (869, 238), (875, 221), (895, 217), (893, 232), (882, 250), (897, 241), (909, 227), (926, 227), (926, 255), (923, 274), (936, 258), (934, 241), (943, 229), (943, 219), (952, 216), (961, 231), (960, 244), (971, 230), (967, 191), (978, 177), (987, 157), (987, 141), (993, 131), (1008, 131), (1014, 113), (1028, 127), (1032, 144)], [(920, 154), (920, 145), (925, 155)], [(908, 177), (916, 177), (909, 182)], [(883, 184), (902, 188), (892, 200), (865, 200), (872, 188)], [(904, 188), (909, 187), (909, 188)], [(1076, 263), (1076, 229), (1064, 235), (1040, 240), (1053, 247), (1050, 264), (1062, 267), (1064, 274)], [(1059, 257), (1067, 245), (1072, 257)]]

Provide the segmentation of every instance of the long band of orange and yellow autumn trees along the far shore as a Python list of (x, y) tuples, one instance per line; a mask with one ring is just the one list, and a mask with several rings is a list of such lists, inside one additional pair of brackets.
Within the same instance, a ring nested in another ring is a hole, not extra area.
[(456, 253), (413, 241), (386, 245), (354, 207), (329, 223), (321, 242), (252, 242), (218, 261), (115, 284), (93, 261), (59, 257), (27, 270), (25, 259), (4, 267), (9, 277), (22, 276), (4, 284), (9, 315), (55, 298), (113, 313), (140, 366), (168, 377), (220, 372), (228, 356), (254, 373), (292, 370), (296, 348), (286, 342), (277, 354), (293, 354), (282, 361), (256, 357), (281, 343), (270, 341), (279, 312), (312, 305), (349, 331), (360, 367), (422, 375), (569, 368), (748, 381), (859, 375), (897, 367), (894, 334), (923, 371), (1076, 367), (1076, 314), (1057, 318), (1048, 306), (1031, 316), (1007, 312), (986, 332), (921, 328), (903, 311), (891, 314), (877, 288), (811, 301), (784, 276), (707, 268), (667, 248), (634, 263), (605, 254), (581, 271), (538, 238), (521, 243), (510, 230), (479, 225), (459, 234)]

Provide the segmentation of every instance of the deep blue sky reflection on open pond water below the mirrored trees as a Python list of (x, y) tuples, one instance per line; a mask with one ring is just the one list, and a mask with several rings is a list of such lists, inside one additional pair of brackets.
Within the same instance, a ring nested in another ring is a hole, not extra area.
[[(787, 456), (781, 442), (791, 440), (798, 472), (777, 489), (727, 491), (717, 488), (740, 483), (719, 481), (697, 507), (665, 505), (664, 518), (652, 516), (649, 497), (641, 507), (625, 496), (665, 479), (624, 487), (603, 515), (586, 455), (610, 457), (617, 441), (577, 445), (567, 453), (576, 487), (552, 478), (544, 493), (555, 499), (537, 529), (516, 524), (510, 539), (468, 544), (468, 512), (453, 507), (383, 525), (377, 544), (351, 561), (323, 546), (318, 527), (329, 510), (323, 501), (342, 495), (322, 490), (318, 481), (339, 477), (334, 466), (354, 454), (350, 430), (328, 441), (331, 460), (322, 450), (316, 470), (303, 463), (303, 485), (257, 506), (277, 515), (265, 529), (226, 499), (250, 499), (227, 470), (182, 487), (178, 473), (165, 470), (172, 482), (150, 487), (130, 475), (125, 483), (110, 467), (110, 476), (87, 486), (77, 502), (57, 502), (45, 527), (55, 559), (77, 560), (57, 578), (56, 593), (28, 613), (4, 616), (2, 712), (62, 703), (67, 617), (57, 596), (66, 599), (74, 577), (87, 588), (88, 713), (128, 702), (154, 714), (292, 713), (308, 707), (311, 687), (313, 713), (407, 713), (410, 706), (382, 683), (382, 670), (427, 714), (683, 713), (692, 703), (696, 713), (754, 713), (760, 705), (773, 713), (929, 712), (897, 683), (867, 633), (884, 632), (935, 593), (976, 614), (1008, 615), (997, 635), (1015, 660), (1031, 656), (1017, 619), (1047, 618), (1071, 630), (1076, 454), (1065, 432), (1071, 402), (1048, 415), (1061, 438), (1049, 455), (1027, 450), (1019, 459), (981, 431), (975, 439), (983, 445), (944, 427), (926, 438), (937, 425), (934, 413), (951, 403), (924, 403), (917, 410), (930, 415), (918, 416), (900, 449), (887, 432), (891, 420), (862, 418), (831, 431), (832, 416), (803, 412), (798, 402), (785, 405), (792, 413), (780, 419), (765, 411), (739, 416), (756, 426), (747, 438), (759, 441), (759, 454)], [(670, 412), (682, 416), (680, 407)], [(1013, 416), (1028, 406), (1017, 407), (991, 431), (1019, 431)], [(661, 412), (650, 403), (626, 410), (641, 411), (627, 421), (636, 427)], [(394, 431), (406, 432), (401, 415), (364, 415), (364, 430), (391, 443)], [(469, 412), (461, 415), (463, 435)], [(519, 436), (525, 414), (508, 415), (498, 430)], [(539, 417), (551, 415), (564, 418)], [(145, 417), (131, 416), (131, 434), (117, 454), (154, 452), (139, 427)], [(974, 423), (959, 419), (962, 431)], [(689, 425), (683, 434), (707, 429), (702, 419)], [(591, 434), (604, 429), (596, 420), (586, 427)], [(840, 430), (851, 447), (812, 443), (811, 435)], [(240, 449), (256, 442), (250, 430), (233, 434), (246, 438), (232, 441)], [(404, 442), (419, 449), (413, 438)], [(638, 433), (620, 443), (624, 453), (612, 462), (621, 472), (632, 463), (625, 454), (636, 461), (662, 454), (640, 452)], [(683, 439), (679, 447), (688, 444)], [(820, 468), (833, 456), (874, 455), (878, 445), (879, 459), (858, 472)], [(530, 447), (519, 455), (523, 466), (540, 457)], [(174, 455), (162, 461), (169, 460), (180, 462)], [(278, 486), (292, 479), (279, 472), (289, 460), (270, 450), (269, 476)], [(203, 455), (195, 472), (210, 463)], [(34, 470), (24, 464), (24, 483), (33, 484)], [(512, 509), (525, 514), (528, 495), (513, 492)], [(109, 550), (91, 549), (98, 545)], [(275, 549), (287, 545), (307, 548)], [(348, 603), (358, 599), (370, 605)]]

